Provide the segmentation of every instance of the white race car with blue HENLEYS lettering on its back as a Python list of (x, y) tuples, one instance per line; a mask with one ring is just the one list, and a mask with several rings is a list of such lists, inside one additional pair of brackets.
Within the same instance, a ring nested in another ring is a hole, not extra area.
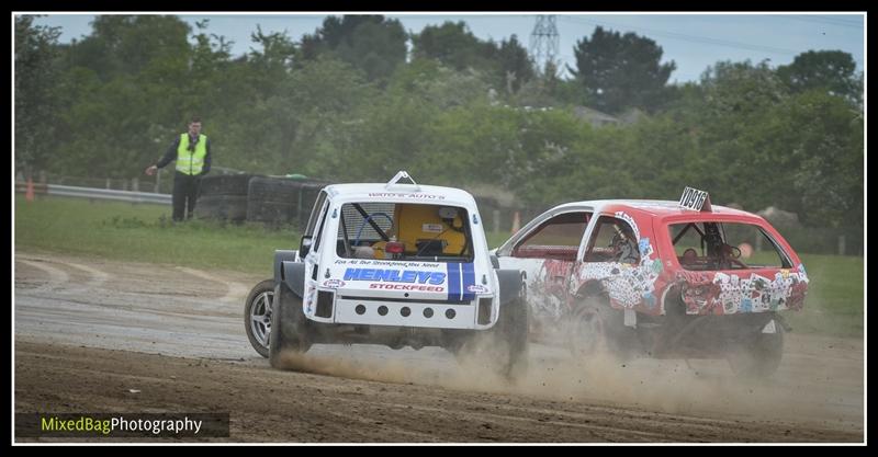
[(315, 343), (441, 346), (477, 349), (514, 378), (527, 361), (524, 294), (521, 273), (488, 253), (473, 196), (401, 171), (324, 187), (299, 251), (275, 251), (274, 277), (247, 297), (245, 327), (272, 367)]

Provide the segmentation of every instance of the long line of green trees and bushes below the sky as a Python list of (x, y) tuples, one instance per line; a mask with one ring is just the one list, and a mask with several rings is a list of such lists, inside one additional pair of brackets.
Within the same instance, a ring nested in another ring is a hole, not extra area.
[[(381, 15), (328, 16), (250, 50), (172, 15), (99, 15), (70, 44), (15, 16), (15, 167), (134, 178), (198, 114), (214, 164), (337, 182), (489, 185), (530, 207), (589, 198), (769, 205), (814, 227), (863, 225), (863, 73), (849, 54), (787, 66), (718, 61), (669, 84), (675, 64), (633, 33), (597, 27), (572, 77), (538, 68), (516, 36), (463, 22), (418, 33)], [(409, 48), (410, 45), (410, 48)], [(588, 106), (633, 123), (595, 127)]]

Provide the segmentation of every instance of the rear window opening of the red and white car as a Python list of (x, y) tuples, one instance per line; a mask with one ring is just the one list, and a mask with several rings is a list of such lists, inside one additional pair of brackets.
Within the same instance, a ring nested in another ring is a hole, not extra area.
[(762, 227), (694, 221), (668, 226), (680, 266), (691, 271), (789, 269), (792, 263)]

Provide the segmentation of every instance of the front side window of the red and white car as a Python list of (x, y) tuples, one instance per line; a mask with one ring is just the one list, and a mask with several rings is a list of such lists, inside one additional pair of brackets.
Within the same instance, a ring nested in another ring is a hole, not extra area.
[(540, 224), (513, 249), (516, 258), (576, 260), (590, 213), (564, 213)]

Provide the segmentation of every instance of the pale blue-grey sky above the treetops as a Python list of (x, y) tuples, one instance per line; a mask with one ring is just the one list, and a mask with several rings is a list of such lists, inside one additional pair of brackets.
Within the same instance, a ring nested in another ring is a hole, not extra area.
[[(20, 12), (26, 13), (26, 12)], [(150, 12), (151, 13), (151, 12)], [(376, 14), (375, 12), (369, 12)], [(94, 14), (44, 13), (37, 25), (61, 27), (61, 43), (81, 39), (91, 34), (90, 22)], [(336, 13), (340, 15), (341, 13)], [(528, 47), (537, 23), (537, 14), (524, 13), (384, 13), (398, 19), (406, 31), (418, 33), (427, 25), (446, 21), (464, 21), (470, 31), (481, 39), (499, 42), (511, 35)], [(263, 33), (286, 32), (299, 41), (313, 34), (327, 13), (178, 13), (193, 25), (209, 19), (207, 32), (234, 42), (233, 55), (240, 55), (254, 46), (250, 34), (261, 26)], [(865, 64), (865, 13), (572, 13), (554, 14), (559, 34), (558, 60), (575, 68), (573, 48), (577, 41), (590, 37), (596, 26), (621, 33), (633, 32), (656, 42), (664, 50), (662, 62), (673, 60), (676, 70), (669, 82), (698, 81), (708, 66), (717, 61), (756, 64), (768, 59), (772, 67), (788, 65), (807, 50), (843, 50), (857, 62), (857, 71)]]

